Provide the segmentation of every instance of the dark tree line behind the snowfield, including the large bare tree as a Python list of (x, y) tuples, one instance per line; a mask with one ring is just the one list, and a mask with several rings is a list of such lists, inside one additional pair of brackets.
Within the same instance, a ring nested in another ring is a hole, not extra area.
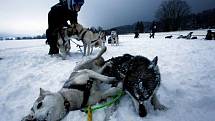
[[(156, 31), (177, 31), (215, 28), (215, 8), (192, 13), (185, 0), (163, 1), (155, 13)], [(138, 21), (132, 25), (114, 27), (119, 34), (149, 32), (152, 22)], [(110, 33), (112, 30), (106, 30)]]

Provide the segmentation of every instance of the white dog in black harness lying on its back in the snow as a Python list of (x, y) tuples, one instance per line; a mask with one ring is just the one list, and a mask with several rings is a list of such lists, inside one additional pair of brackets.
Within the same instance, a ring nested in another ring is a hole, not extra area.
[[(31, 113), (22, 121), (59, 121), (69, 111), (79, 110), (87, 105), (94, 105), (109, 96), (116, 95), (122, 89), (111, 87), (107, 90), (98, 90), (100, 82), (110, 83), (115, 81), (114, 77), (101, 75), (100, 73), (108, 65), (103, 63), (101, 55), (106, 47), (90, 60), (78, 65), (71, 73), (68, 81), (58, 92), (50, 92), (40, 89), (40, 95), (31, 108)], [(101, 61), (101, 62), (100, 62)], [(92, 70), (89, 70), (92, 69)]]

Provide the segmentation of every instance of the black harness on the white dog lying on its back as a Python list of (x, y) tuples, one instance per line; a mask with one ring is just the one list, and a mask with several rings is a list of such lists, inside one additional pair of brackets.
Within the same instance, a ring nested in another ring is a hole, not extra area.
[(80, 91), (83, 91), (84, 93), (84, 99), (81, 104), (81, 108), (84, 108), (87, 105), (87, 102), (90, 97), (90, 89), (92, 88), (93, 81), (88, 80), (87, 84), (70, 84), (68, 87), (63, 87), (63, 88), (68, 88), (68, 89), (77, 89)]

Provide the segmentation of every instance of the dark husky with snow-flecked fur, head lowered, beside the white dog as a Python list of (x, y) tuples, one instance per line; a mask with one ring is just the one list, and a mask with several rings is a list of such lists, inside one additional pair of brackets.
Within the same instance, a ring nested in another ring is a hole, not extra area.
[(111, 66), (106, 68), (104, 75), (114, 76), (119, 81), (123, 81), (123, 88), (132, 98), (135, 108), (141, 117), (147, 115), (144, 102), (151, 100), (154, 109), (166, 110), (162, 105), (156, 92), (160, 85), (161, 77), (157, 65), (158, 57), (152, 61), (143, 56), (123, 56), (112, 58), (106, 62), (111, 62)]

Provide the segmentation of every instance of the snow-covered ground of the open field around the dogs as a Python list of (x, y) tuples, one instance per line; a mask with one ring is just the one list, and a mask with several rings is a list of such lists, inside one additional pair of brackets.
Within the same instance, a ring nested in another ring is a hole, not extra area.
[[(105, 59), (124, 53), (142, 55), (149, 59), (158, 56), (162, 85), (160, 101), (169, 110), (154, 111), (147, 105), (148, 115), (140, 118), (131, 99), (124, 96), (110, 121), (214, 121), (215, 115), (215, 41), (176, 39), (189, 31), (120, 35), (119, 46), (107, 45)], [(205, 35), (206, 30), (195, 30)], [(172, 39), (165, 36), (173, 35)], [(39, 95), (39, 88), (57, 92), (76, 63), (83, 59), (72, 45), (71, 57), (62, 60), (48, 56), (45, 40), (0, 41), (0, 120), (19, 121), (25, 116)], [(98, 52), (95, 49), (93, 55)], [(92, 56), (93, 56), (92, 55)], [(108, 110), (108, 109), (107, 109)], [(105, 111), (93, 114), (93, 121), (103, 121)], [(86, 121), (81, 111), (70, 112), (63, 121)]]

